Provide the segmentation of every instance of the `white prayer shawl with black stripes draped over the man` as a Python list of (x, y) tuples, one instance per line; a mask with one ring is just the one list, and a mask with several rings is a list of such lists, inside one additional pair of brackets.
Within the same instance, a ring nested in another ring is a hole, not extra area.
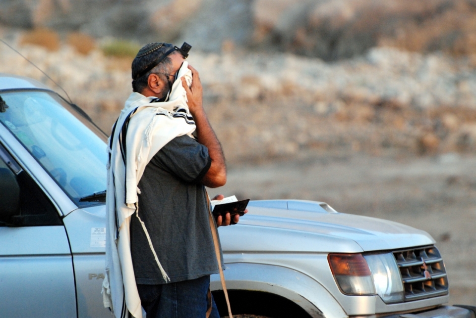
[[(108, 142), (110, 164), (106, 196), (106, 276), (102, 294), (104, 307), (110, 308), (116, 318), (127, 317), (128, 312), (135, 318), (142, 318), (129, 235), (130, 218), (138, 209), (137, 194), (140, 190), (137, 185), (147, 163), (164, 145), (177, 136), (191, 136), (196, 128), (180, 80), (184, 77), (187, 84), (191, 84), (191, 71), (187, 65), (187, 62), (183, 62), (169, 101), (155, 102), (155, 97), (145, 97), (137, 92), (130, 94)], [(125, 145), (121, 132), (124, 123)], [(137, 211), (136, 216), (140, 220), (140, 211)], [(164, 279), (170, 280), (160, 265), (147, 229), (142, 221), (140, 223), (157, 266)]]

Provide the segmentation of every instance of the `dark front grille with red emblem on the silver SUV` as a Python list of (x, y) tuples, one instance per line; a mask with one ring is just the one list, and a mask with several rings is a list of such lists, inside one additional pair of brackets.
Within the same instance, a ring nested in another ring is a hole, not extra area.
[(405, 287), (405, 301), (448, 294), (448, 278), (440, 252), (434, 246), (394, 251)]

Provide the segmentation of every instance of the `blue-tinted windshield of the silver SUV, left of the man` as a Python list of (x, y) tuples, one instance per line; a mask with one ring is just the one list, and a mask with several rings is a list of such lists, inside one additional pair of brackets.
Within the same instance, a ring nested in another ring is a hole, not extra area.
[(97, 197), (104, 198), (106, 189), (107, 136), (56, 93), (10, 91), (0, 97), (6, 104), (1, 123), (76, 205), (104, 201)]

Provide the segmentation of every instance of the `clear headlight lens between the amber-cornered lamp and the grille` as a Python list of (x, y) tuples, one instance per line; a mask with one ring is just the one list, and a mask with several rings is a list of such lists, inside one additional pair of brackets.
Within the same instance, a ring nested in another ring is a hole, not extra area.
[(377, 295), (385, 303), (403, 302), (402, 277), (392, 253), (365, 255)]

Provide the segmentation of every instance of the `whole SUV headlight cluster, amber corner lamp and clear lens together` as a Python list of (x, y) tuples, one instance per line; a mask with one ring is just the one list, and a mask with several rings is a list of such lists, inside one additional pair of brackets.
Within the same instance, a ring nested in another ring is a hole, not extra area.
[(391, 253), (329, 254), (331, 271), (343, 293), (379, 295), (385, 303), (404, 300), (402, 278)]

